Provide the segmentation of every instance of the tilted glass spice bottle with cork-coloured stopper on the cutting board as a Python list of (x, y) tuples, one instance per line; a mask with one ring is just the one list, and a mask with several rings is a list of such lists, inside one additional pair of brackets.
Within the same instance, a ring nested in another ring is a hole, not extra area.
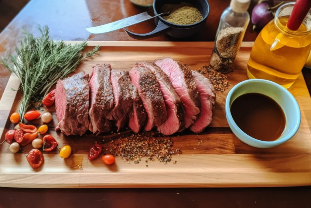
[(229, 73), (234, 69), (245, 30), (249, 23), (250, 0), (231, 0), (220, 17), (210, 65), (217, 71)]

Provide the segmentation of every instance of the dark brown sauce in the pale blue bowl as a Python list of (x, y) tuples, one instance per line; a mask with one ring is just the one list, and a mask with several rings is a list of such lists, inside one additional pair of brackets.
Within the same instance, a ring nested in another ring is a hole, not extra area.
[(249, 136), (262, 141), (275, 141), (282, 135), (286, 119), (280, 105), (259, 93), (237, 97), (230, 107), (238, 127)]

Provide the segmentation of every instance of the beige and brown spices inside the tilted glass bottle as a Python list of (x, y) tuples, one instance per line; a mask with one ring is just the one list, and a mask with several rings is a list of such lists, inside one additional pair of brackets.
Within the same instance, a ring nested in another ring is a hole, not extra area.
[(216, 35), (210, 64), (222, 73), (229, 73), (234, 69), (234, 59), (239, 51), (244, 29), (242, 27), (227, 27)]

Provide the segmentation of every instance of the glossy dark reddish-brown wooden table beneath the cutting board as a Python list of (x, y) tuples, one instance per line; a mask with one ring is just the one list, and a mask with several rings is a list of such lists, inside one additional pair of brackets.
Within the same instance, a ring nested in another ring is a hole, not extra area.
[[(221, 12), (230, 0), (209, 0), (211, 12), (206, 27), (182, 41), (214, 41)], [(249, 12), (254, 7), (252, 2)], [(0, 56), (13, 51), (22, 27), (38, 35), (38, 25), (48, 25), (50, 35), (59, 40), (136, 41), (123, 30), (93, 35), (85, 27), (97, 26), (129, 17), (146, 8), (129, 0), (31, 0), (0, 34)], [(251, 29), (244, 41), (254, 41)], [(144, 22), (129, 29), (137, 33), (152, 31)], [(158, 36), (148, 41), (181, 41)], [(303, 70), (311, 87), (311, 70)], [(0, 98), (10, 72), (0, 65)], [(1, 165), (1, 164), (0, 164)], [(96, 180), (96, 178), (94, 179)], [(282, 188), (157, 188), (157, 189), (21, 189), (0, 187), (1, 207), (310, 207), (311, 187)]]

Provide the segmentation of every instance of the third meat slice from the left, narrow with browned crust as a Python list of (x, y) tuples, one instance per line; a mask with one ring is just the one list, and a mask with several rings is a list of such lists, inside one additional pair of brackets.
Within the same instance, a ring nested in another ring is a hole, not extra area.
[(119, 131), (128, 123), (129, 113), (132, 110), (132, 82), (128, 71), (114, 69), (111, 70), (110, 80), (114, 93), (114, 109), (111, 114)]

